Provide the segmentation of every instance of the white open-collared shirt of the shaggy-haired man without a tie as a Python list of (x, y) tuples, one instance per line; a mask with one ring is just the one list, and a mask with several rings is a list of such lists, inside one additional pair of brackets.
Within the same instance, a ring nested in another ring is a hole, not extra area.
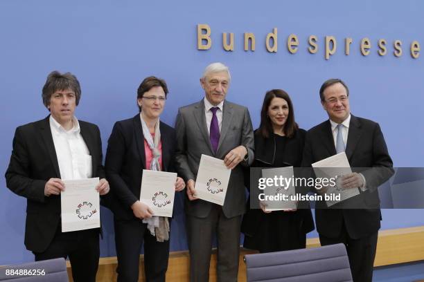
[(73, 118), (73, 128), (69, 131), (51, 115), (49, 122), (62, 180), (91, 178), (91, 156), (82, 139), (78, 120)]

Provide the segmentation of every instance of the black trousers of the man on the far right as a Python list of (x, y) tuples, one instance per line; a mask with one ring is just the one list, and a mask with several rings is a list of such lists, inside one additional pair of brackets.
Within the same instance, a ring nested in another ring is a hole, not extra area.
[(373, 280), (373, 265), (376, 258), (378, 232), (370, 236), (353, 239), (348, 236), (346, 227), (337, 238), (328, 238), (319, 234), (322, 246), (344, 243), (354, 282), (371, 282)]

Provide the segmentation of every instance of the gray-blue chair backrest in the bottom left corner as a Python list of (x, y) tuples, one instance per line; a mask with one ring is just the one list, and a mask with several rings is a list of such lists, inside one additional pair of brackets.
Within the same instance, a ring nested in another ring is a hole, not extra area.
[(67, 263), (60, 258), (1, 266), (0, 281), (68, 282)]

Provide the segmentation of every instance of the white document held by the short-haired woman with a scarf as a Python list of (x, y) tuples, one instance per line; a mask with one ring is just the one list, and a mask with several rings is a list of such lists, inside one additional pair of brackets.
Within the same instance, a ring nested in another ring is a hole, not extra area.
[(140, 202), (152, 209), (154, 216), (173, 216), (177, 173), (143, 169)]

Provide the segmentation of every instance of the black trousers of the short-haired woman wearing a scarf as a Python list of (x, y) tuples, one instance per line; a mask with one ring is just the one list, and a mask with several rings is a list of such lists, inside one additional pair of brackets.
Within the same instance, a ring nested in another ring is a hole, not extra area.
[(140, 251), (144, 243), (145, 281), (165, 281), (169, 241), (157, 242), (141, 220), (114, 220), (118, 282), (139, 281)]

